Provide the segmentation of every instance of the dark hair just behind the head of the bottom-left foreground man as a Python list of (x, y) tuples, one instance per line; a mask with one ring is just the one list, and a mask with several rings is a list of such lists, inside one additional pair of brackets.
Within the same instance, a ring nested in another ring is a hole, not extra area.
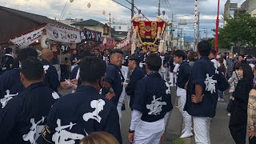
[(33, 48), (28, 47), (28, 48), (22, 49), (18, 53), (17, 60), (19, 62), (22, 62), (26, 58), (30, 58), (30, 57), (38, 58), (38, 51)]

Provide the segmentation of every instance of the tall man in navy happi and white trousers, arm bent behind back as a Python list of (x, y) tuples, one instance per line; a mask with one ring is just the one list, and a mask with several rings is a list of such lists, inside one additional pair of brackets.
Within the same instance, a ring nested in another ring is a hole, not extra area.
[(194, 63), (186, 93), (184, 110), (193, 117), (196, 143), (210, 143), (210, 118), (216, 114), (218, 90), (227, 89), (226, 78), (208, 58), (211, 46), (198, 43), (199, 59)]

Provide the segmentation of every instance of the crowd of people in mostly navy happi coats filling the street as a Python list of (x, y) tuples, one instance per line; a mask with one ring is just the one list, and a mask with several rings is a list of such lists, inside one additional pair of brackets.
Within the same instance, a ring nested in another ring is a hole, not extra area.
[[(28, 47), (14, 56), (6, 48), (0, 143), (122, 143), (125, 98), (129, 142), (160, 143), (173, 109), (172, 86), (184, 122), (180, 138), (194, 135), (196, 143), (210, 143), (210, 120), (226, 93), (234, 142), (246, 143), (247, 128), (250, 143), (256, 142), (256, 66), (250, 55), (216, 54), (207, 41), (198, 43), (197, 52), (74, 50), (70, 78), (63, 82), (53, 58), (49, 49)], [(62, 96), (61, 89), (72, 92)]]

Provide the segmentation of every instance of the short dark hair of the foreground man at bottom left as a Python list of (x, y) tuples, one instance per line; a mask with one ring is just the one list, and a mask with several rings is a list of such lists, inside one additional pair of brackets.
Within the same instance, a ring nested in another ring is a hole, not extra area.
[(21, 72), (29, 81), (39, 80), (44, 73), (42, 62), (38, 58), (26, 58), (22, 62)]

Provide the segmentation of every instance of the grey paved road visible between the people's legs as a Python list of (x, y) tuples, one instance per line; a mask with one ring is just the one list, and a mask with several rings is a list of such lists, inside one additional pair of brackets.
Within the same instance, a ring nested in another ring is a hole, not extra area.
[[(172, 90), (172, 102), (176, 102), (176, 92), (174, 87)], [(61, 94), (68, 94), (70, 90), (61, 90)], [(218, 102), (217, 106), (217, 114), (212, 119), (210, 126), (210, 139), (212, 144), (234, 144), (234, 141), (230, 135), (230, 130), (228, 128), (228, 123), (230, 117), (227, 115), (226, 106), (227, 106), (227, 98), (226, 102)], [(121, 130), (122, 130), (122, 139), (123, 144), (129, 144), (127, 141), (127, 134), (130, 126), (130, 108), (127, 107), (126, 100), (126, 110), (122, 111), (122, 121), (121, 121)], [(170, 120), (168, 122), (168, 126), (166, 128), (166, 137), (161, 142), (161, 144), (171, 144), (176, 143), (174, 141), (178, 141), (180, 133), (182, 131), (182, 115), (178, 111), (178, 108), (175, 107), (171, 112)], [(194, 144), (194, 138), (186, 138), (182, 140), (181, 143)], [(177, 142), (178, 143), (178, 142)]]

